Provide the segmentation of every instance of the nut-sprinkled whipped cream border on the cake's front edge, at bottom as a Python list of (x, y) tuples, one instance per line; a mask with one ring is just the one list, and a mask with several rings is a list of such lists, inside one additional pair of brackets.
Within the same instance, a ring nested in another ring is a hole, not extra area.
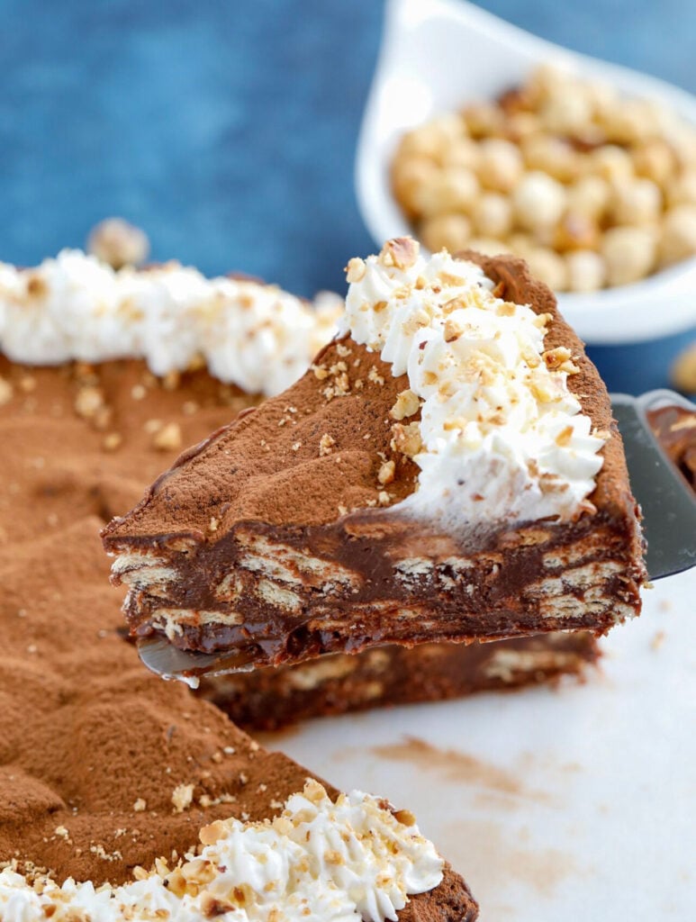
[(272, 822), (227, 820), (201, 831), (197, 857), (162, 860), (121, 887), (0, 873), (3, 922), (383, 922), (408, 894), (442, 881), (442, 858), (413, 817), (353, 791), (333, 803), (308, 781)]

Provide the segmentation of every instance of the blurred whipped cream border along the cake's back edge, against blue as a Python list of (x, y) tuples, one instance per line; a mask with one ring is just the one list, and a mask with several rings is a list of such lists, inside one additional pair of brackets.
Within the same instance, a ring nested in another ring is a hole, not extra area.
[(35, 268), (0, 263), (0, 349), (28, 364), (143, 358), (158, 375), (202, 359), (220, 381), (271, 396), (333, 335), (343, 304), (320, 300), (178, 263), (114, 271), (63, 250)]

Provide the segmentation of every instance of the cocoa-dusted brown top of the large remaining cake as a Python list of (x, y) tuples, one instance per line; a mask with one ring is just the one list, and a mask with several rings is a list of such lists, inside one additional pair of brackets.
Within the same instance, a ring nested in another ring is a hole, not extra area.
[[(207, 822), (272, 815), (307, 774), (147, 673), (123, 639), (99, 539), (171, 459), (158, 431), (175, 424), (195, 443), (254, 401), (205, 372), (158, 382), (138, 361), (0, 359), (0, 375), (11, 387), (0, 407), (0, 864), (123, 881), (183, 855)], [(105, 445), (110, 433), (118, 446)]]

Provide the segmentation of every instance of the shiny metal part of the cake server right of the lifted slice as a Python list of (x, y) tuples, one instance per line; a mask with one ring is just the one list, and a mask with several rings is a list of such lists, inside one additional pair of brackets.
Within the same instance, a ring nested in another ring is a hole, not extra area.
[(612, 394), (631, 490), (643, 510), (647, 541), (645, 565), (651, 580), (696, 565), (696, 494), (658, 443), (647, 419), (649, 410), (678, 406), (696, 412), (674, 391), (650, 391), (639, 397)]

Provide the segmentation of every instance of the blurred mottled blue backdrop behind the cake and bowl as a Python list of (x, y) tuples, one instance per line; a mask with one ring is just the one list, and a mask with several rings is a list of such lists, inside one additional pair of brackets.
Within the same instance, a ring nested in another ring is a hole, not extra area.
[[(696, 92), (694, 0), (480, 6)], [(344, 290), (373, 248), (353, 159), (382, 20), (379, 0), (0, 0), (0, 260), (120, 215), (155, 260)], [(594, 357), (645, 390), (687, 338)]]

